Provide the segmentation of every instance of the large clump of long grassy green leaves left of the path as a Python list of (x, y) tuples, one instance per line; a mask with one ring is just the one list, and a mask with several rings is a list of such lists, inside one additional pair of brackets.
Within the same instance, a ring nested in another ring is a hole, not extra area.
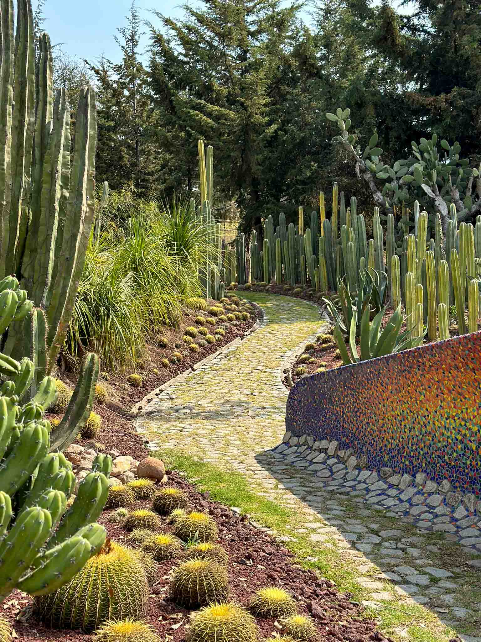
[[(205, 309), (198, 268), (215, 261), (188, 202), (109, 197), (101, 231), (92, 226), (64, 356), (93, 350), (103, 367), (135, 362), (153, 330), (178, 327), (185, 304)], [(94, 230), (97, 232), (94, 234)], [(209, 257), (209, 258), (208, 258)]]

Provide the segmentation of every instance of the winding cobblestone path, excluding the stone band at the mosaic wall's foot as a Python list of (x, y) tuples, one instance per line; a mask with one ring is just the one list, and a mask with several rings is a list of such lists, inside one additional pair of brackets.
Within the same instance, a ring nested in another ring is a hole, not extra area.
[[(332, 555), (364, 589), (386, 632), (399, 639), (481, 642), (481, 555), (416, 530), (385, 512), (360, 507), (325, 489), (325, 482), (271, 451), (285, 431), (287, 390), (280, 375), (289, 353), (321, 330), (319, 309), (287, 297), (245, 293), (265, 313), (261, 327), (150, 403), (137, 429), (158, 446), (246, 475), (258, 494), (291, 510), (283, 539), (307, 539)], [(312, 558), (316, 559), (316, 558)], [(383, 614), (401, 609), (432, 637), (387, 626)], [(428, 625), (423, 624), (423, 618)], [(448, 628), (446, 628), (448, 627)]]

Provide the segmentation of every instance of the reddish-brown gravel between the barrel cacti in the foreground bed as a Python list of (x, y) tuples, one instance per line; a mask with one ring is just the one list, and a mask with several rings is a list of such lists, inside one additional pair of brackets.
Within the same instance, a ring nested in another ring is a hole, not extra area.
[[(332, 582), (317, 577), (314, 571), (294, 564), (292, 553), (276, 543), (272, 537), (251, 525), (246, 516), (239, 516), (230, 508), (209, 499), (208, 492), (200, 493), (179, 474), (169, 472), (169, 485), (189, 494), (190, 506), (214, 517), (219, 526), (219, 543), (229, 556), (229, 599), (248, 608), (253, 593), (265, 586), (283, 587), (298, 603), (298, 611), (310, 614), (316, 621), (319, 637), (324, 641), (339, 642), (392, 642), (376, 629), (376, 623), (362, 616), (362, 607), (342, 595)], [(139, 501), (139, 507), (149, 508), (149, 500)], [(112, 511), (105, 511), (99, 521), (111, 538), (122, 541), (126, 532), (108, 521)], [(172, 529), (164, 517), (162, 531)], [(127, 542), (130, 544), (130, 542)], [(183, 642), (187, 632), (190, 611), (173, 603), (169, 598), (169, 573), (178, 560), (163, 562), (158, 568), (158, 581), (151, 588), (146, 621), (151, 623), (162, 640)], [(25, 642), (39, 640), (72, 640), (87, 642), (91, 636), (82, 632), (47, 629), (35, 615), (26, 621), (15, 621), (22, 607), (30, 603), (15, 591), (6, 603), (3, 615), (15, 627), (15, 634)], [(260, 634), (270, 638), (276, 632), (274, 618), (257, 618)], [(180, 626), (177, 626), (180, 624)]]

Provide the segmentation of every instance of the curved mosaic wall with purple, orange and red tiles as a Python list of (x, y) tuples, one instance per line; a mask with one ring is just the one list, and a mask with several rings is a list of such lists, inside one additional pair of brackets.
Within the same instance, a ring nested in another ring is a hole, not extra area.
[(481, 332), (304, 377), (286, 429), (481, 494)]

